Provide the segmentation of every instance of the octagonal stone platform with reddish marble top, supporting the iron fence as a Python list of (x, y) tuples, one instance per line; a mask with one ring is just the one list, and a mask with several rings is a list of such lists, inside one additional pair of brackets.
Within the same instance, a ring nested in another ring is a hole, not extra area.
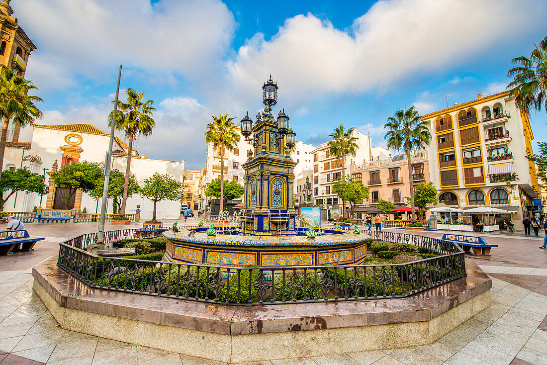
[(62, 328), (225, 362), (430, 344), (491, 304), (491, 280), (467, 277), (409, 298), (229, 306), (86, 286), (51, 258), (34, 290)]

